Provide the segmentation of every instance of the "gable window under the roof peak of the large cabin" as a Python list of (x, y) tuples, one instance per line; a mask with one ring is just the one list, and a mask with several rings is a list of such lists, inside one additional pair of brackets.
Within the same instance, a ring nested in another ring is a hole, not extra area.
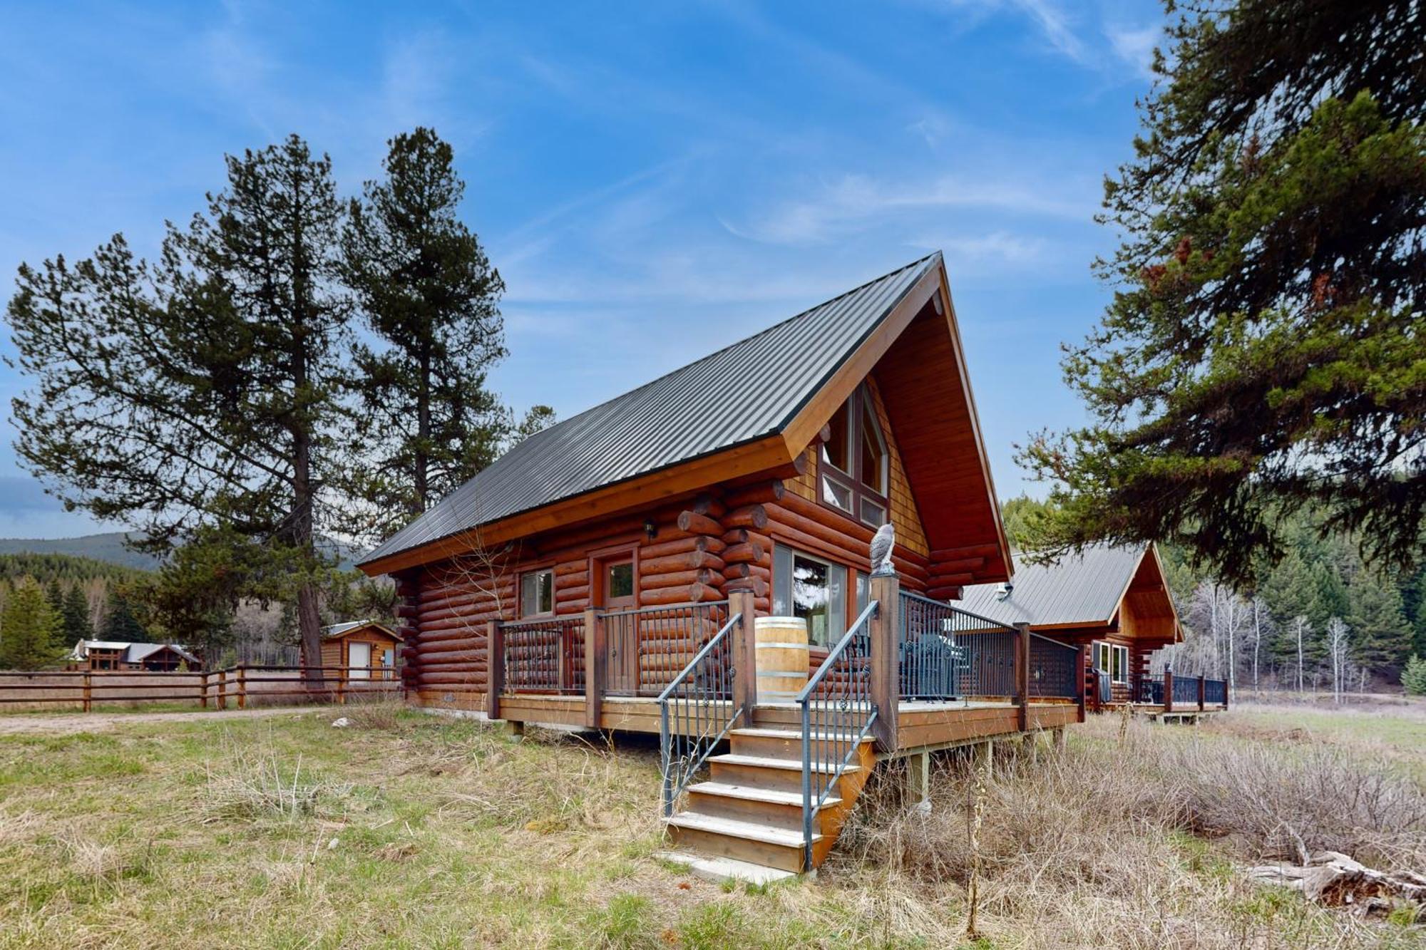
[(866, 384), (847, 398), (827, 424), (821, 444), (821, 502), (878, 528), (886, 523), (891, 454)]

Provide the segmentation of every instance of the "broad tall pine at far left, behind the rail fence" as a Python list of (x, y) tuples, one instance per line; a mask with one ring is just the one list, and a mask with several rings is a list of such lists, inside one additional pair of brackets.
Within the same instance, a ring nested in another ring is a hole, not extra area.
[(272, 551), (312, 662), (318, 494), (342, 481), (342, 218), (329, 160), (292, 136), (228, 157), (227, 188), (157, 264), (116, 235), (73, 268), (21, 265), (7, 311), (34, 384), (13, 402), (23, 464), (147, 548), (222, 525)]

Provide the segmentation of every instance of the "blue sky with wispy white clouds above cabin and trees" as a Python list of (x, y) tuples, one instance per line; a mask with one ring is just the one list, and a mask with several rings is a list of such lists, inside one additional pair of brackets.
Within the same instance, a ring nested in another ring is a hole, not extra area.
[[(0, 14), (0, 275), (165, 218), (291, 131), (355, 193), (434, 126), (508, 285), (506, 401), (560, 418), (945, 252), (1001, 498), (1108, 297), (1102, 175), (1164, 14), (1129, 0), (29, 3)], [(3, 344), (10, 352), (9, 338)], [(0, 368), (0, 398), (23, 381)], [(0, 535), (108, 529), (0, 448)]]

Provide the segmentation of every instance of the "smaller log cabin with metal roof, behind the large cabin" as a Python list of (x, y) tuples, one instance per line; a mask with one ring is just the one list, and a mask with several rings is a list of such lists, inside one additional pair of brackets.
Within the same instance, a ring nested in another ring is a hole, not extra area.
[(1091, 709), (1131, 703), (1151, 715), (1175, 708), (1189, 715), (1226, 708), (1222, 680), (1179, 678), (1175, 688), (1172, 669), (1149, 673), (1155, 650), (1184, 640), (1156, 545), (1091, 545), (1052, 562), (1014, 561), (1014, 583), (965, 588), (965, 609), (1085, 648)]

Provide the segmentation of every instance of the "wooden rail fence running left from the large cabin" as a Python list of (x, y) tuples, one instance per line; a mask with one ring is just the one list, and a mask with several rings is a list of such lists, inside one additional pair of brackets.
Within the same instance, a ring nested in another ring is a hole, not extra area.
[[(307, 676), (321, 676), (319, 685)], [(147, 670), (0, 670), (0, 710), (77, 708), (114, 703), (193, 703), (200, 709), (345, 703), (348, 699), (401, 696), (389, 666), (250, 666), (202, 673)]]

